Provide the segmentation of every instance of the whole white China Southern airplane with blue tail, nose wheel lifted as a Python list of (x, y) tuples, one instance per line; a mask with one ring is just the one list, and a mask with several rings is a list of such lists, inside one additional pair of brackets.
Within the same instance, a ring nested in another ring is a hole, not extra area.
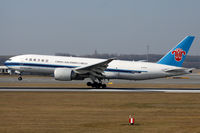
[(192, 73), (192, 68), (182, 64), (194, 38), (186, 36), (156, 63), (27, 54), (11, 57), (4, 64), (10, 73), (19, 75), (18, 80), (22, 80), (24, 72), (53, 74), (59, 81), (89, 78), (88, 86), (106, 88), (106, 79), (147, 80)]

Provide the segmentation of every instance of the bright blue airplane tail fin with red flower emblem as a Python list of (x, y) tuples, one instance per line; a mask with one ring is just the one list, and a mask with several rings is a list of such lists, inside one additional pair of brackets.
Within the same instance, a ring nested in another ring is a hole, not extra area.
[(185, 37), (177, 46), (171, 49), (157, 63), (181, 67), (194, 40), (194, 36)]

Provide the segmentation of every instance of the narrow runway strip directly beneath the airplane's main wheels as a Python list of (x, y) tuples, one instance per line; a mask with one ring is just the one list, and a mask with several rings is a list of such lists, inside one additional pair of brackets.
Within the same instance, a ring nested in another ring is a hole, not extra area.
[(163, 93), (200, 93), (200, 89), (177, 89), (177, 88), (23, 88), (1, 87), (1, 92), (163, 92)]

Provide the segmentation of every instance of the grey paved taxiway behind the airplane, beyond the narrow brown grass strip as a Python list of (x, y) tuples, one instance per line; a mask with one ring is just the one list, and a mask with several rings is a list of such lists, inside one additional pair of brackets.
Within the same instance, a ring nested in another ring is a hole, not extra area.
[[(118, 80), (114, 79), (111, 80), (113, 84), (117, 83), (141, 83), (141, 84), (148, 84), (148, 83), (154, 83), (154, 84), (200, 84), (200, 74), (194, 73), (194, 74), (188, 74), (184, 75), (184, 78), (159, 78), (159, 79), (150, 79), (150, 80)], [(0, 83), (87, 83), (90, 80), (86, 79), (84, 81), (82, 80), (73, 80), (69, 82), (61, 82), (55, 80), (53, 77), (42, 77), (42, 76), (28, 76), (24, 75), (22, 81), (17, 80), (17, 76), (6, 76), (1, 75), (0, 76)]]

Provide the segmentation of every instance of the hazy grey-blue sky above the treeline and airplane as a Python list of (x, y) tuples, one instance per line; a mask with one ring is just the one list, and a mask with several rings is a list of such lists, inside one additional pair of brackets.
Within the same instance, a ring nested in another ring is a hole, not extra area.
[(0, 0), (0, 55), (164, 54), (187, 35), (200, 55), (199, 0)]

